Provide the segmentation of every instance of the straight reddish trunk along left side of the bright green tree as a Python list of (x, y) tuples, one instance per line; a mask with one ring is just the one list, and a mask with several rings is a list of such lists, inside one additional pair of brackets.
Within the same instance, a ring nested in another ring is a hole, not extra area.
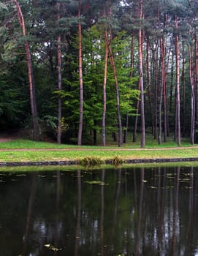
[(79, 83), (80, 83), (80, 118), (77, 145), (82, 145), (83, 132), (83, 67), (82, 67), (82, 31), (81, 31), (81, 0), (78, 0), (78, 69), (79, 69)]

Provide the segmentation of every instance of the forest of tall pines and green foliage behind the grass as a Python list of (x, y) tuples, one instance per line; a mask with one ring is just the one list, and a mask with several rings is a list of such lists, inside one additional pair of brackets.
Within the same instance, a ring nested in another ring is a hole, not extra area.
[(0, 131), (198, 142), (197, 0), (1, 0)]

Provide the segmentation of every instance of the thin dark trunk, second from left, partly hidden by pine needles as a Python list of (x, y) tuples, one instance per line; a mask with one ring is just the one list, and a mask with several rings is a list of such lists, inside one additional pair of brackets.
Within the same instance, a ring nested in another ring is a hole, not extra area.
[[(58, 20), (60, 20), (60, 3), (56, 3), (58, 12)], [(62, 90), (62, 74), (61, 74), (61, 35), (58, 35), (58, 130), (57, 130), (57, 142), (61, 144), (61, 119), (62, 119), (62, 102), (61, 102), (61, 90)]]

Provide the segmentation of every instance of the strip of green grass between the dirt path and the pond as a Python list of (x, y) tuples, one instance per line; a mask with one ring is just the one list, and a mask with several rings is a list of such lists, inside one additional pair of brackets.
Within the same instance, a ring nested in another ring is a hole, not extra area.
[(76, 151), (1, 151), (0, 162), (26, 162), (26, 161), (58, 161), (58, 160), (80, 160), (85, 157), (99, 157), (101, 159), (113, 159), (119, 156), (123, 159), (156, 159), (176, 157), (198, 157), (198, 148), (169, 149), (169, 150), (83, 150)]

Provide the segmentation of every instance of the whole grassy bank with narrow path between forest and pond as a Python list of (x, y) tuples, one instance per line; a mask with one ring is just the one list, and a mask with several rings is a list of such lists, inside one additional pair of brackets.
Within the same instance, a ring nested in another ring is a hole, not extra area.
[[(183, 148), (185, 147), (185, 148)], [(198, 157), (198, 148), (191, 147), (183, 141), (180, 148), (176, 143), (164, 143), (153, 146), (148, 143), (146, 148), (140, 149), (140, 144), (131, 143), (123, 148), (117, 146), (70, 146), (56, 143), (34, 142), (31, 140), (12, 140), (0, 143), (0, 162), (35, 162), (35, 161), (66, 161), (80, 160), (85, 157), (113, 159), (159, 159)]]

